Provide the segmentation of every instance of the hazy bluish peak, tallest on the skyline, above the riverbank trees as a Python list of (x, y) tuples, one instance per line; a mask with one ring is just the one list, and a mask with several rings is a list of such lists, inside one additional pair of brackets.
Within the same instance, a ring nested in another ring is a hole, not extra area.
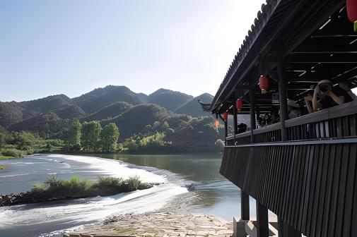
[(104, 88), (97, 88), (80, 97), (73, 98), (74, 104), (81, 107), (86, 114), (93, 114), (94, 112), (103, 109), (104, 107), (115, 102), (127, 102), (129, 104), (144, 103), (142, 95), (136, 94), (129, 90), (128, 87), (108, 85)]

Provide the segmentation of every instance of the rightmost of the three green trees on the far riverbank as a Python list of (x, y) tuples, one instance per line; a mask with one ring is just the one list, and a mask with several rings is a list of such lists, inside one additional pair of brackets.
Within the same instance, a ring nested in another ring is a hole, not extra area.
[(105, 152), (115, 152), (119, 139), (119, 130), (115, 123), (109, 123), (100, 133), (102, 150)]

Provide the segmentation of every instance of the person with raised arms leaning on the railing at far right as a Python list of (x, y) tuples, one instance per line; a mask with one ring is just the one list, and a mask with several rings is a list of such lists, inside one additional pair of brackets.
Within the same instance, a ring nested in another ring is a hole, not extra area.
[[(349, 94), (353, 95), (353, 97)], [(356, 99), (356, 96), (346, 83), (339, 83), (339, 85), (333, 86), (329, 80), (321, 80), (315, 86), (313, 96), (308, 95), (305, 97), (305, 103), (309, 113), (312, 113), (320, 109), (351, 102), (353, 99)]]

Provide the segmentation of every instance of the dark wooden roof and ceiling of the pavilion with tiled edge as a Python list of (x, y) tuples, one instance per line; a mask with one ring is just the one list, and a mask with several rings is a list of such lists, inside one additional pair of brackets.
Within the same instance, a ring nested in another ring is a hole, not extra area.
[[(308, 5), (312, 2), (324, 6)], [(257, 32), (250, 31), (252, 39), (246, 37), (218, 89), (211, 111), (223, 113), (242, 97), (242, 112), (249, 113), (250, 88), (255, 92), (254, 104), (259, 111), (279, 107), (273, 99), (278, 92), (277, 61), (283, 62), (288, 99), (302, 105), (305, 95), (320, 80), (345, 81), (351, 88), (357, 87), (357, 33), (346, 16), (344, 1), (306, 0), (300, 4), (298, 7), (292, 1), (272, 0), (262, 7), (258, 19), (260, 15), (264, 23), (258, 29), (259, 20), (254, 21)], [(314, 28), (309, 29), (311, 26)], [(271, 77), (269, 93), (265, 95), (260, 94), (257, 84), (262, 71)]]

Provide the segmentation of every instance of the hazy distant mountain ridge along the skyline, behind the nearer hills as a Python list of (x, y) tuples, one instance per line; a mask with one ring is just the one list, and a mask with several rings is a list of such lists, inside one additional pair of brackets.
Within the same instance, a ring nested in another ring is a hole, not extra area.
[[(209, 116), (209, 113), (201, 110), (197, 102), (197, 98), (203, 97), (204, 99), (201, 100), (204, 102), (211, 102), (206, 100), (213, 99), (213, 96), (208, 93), (193, 97), (182, 92), (160, 88), (146, 95), (133, 92), (124, 85), (107, 85), (73, 98), (59, 94), (23, 102), (0, 102), (0, 126), (10, 129), (24, 128), (23, 124), (31, 121), (28, 119), (49, 118), (44, 116), (45, 114), (55, 114), (59, 119), (101, 121), (115, 118), (139, 104), (158, 104), (177, 114)], [(22, 121), (25, 123), (21, 123)], [(16, 123), (19, 123), (18, 126), (14, 126)]]

